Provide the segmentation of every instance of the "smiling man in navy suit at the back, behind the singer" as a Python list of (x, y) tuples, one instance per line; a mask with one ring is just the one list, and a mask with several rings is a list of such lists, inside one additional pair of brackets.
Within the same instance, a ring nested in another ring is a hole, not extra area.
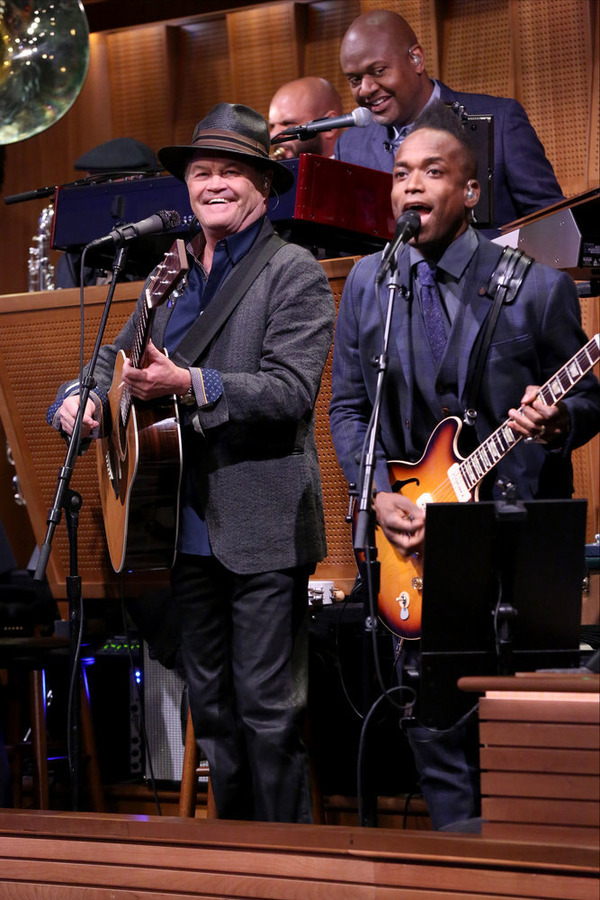
[(426, 105), (458, 103), (471, 115), (494, 117), (492, 228), (563, 199), (523, 107), (516, 100), (453, 91), (432, 80), (423, 48), (401, 16), (389, 10), (359, 16), (344, 35), (340, 61), (355, 101), (371, 111), (373, 122), (340, 135), (337, 159), (391, 172), (396, 150)]

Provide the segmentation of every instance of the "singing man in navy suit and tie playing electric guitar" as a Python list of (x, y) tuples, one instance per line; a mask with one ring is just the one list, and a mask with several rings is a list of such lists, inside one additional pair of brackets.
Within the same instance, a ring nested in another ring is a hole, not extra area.
[[(475, 347), (485, 331), (490, 277), (502, 253), (469, 224), (479, 196), (475, 173), (475, 155), (460, 121), (443, 104), (432, 104), (401, 144), (394, 167), (394, 215), (416, 213), (420, 228), (397, 258), (402, 293), (393, 308), (375, 447), (377, 524), (407, 558), (422, 551), (425, 508), (392, 491), (386, 460), (418, 461), (437, 423), (449, 415), (462, 420), (473, 402)], [(383, 284), (379, 292), (375, 287), (380, 265), (381, 254), (375, 254), (354, 266), (336, 325), (331, 429), (344, 474), (356, 484), (377, 391), (373, 360), (382, 353), (386, 319), (387, 290)], [(437, 305), (426, 309), (430, 301)], [(432, 324), (437, 325), (433, 332)], [(474, 401), (475, 424), (465, 425), (461, 434), (470, 438), (472, 449), (510, 419), (510, 429), (525, 440), (500, 460), (494, 475), (511, 482), (523, 499), (570, 496), (570, 453), (600, 429), (600, 386), (591, 374), (555, 404), (538, 399), (539, 385), (584, 343), (572, 279), (534, 262), (516, 297), (500, 309)], [(492, 496), (502, 496), (498, 485), (484, 482), (482, 499)], [(414, 657), (418, 642), (409, 645), (405, 657)], [(409, 729), (436, 828), (478, 815), (472, 726), (472, 721), (459, 723), (448, 733)]]

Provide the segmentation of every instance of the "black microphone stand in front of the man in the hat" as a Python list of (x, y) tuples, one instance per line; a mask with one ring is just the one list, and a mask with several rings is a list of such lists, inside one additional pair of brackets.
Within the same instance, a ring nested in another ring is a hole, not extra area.
[[(85, 251), (84, 251), (85, 252)], [(82, 505), (82, 498), (77, 491), (71, 490), (69, 487), (71, 476), (75, 468), (75, 461), (79, 455), (81, 446), (81, 427), (83, 420), (83, 412), (89, 399), (90, 391), (96, 386), (94, 380), (94, 371), (98, 354), (102, 346), (104, 331), (108, 321), (108, 315), (115, 292), (115, 287), (122, 273), (125, 262), (127, 260), (127, 246), (125, 240), (122, 239), (115, 251), (115, 259), (112, 266), (112, 278), (108, 290), (108, 296), (102, 313), (102, 319), (98, 327), (98, 334), (94, 344), (92, 358), (87, 367), (87, 374), (82, 377), (80, 383), (79, 409), (73, 426), (71, 440), (67, 447), (65, 461), (58, 473), (58, 484), (56, 493), (52, 503), (52, 508), (48, 513), (47, 531), (44, 543), (40, 548), (36, 570), (34, 573), (35, 581), (42, 581), (45, 577), (46, 567), (52, 549), (52, 538), (56, 530), (56, 526), (61, 520), (62, 510), (65, 511), (67, 535), (69, 538), (69, 575), (66, 578), (66, 593), (69, 610), (69, 665), (71, 672), (70, 694), (69, 694), (69, 723), (68, 723), (68, 740), (69, 748), (69, 772), (71, 776), (71, 807), (74, 811), (79, 809), (79, 795), (81, 787), (81, 708), (80, 708), (80, 688), (81, 688), (81, 637), (83, 632), (82, 620), (82, 591), (81, 576), (78, 572), (78, 554), (77, 554), (77, 527), (79, 523), (79, 510)], [(83, 285), (81, 286), (83, 293)]]

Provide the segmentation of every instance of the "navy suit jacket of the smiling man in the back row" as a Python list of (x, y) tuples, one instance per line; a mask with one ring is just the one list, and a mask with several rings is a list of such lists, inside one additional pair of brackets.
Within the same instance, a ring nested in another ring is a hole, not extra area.
[[(493, 228), (545, 209), (563, 199), (544, 148), (520, 103), (488, 94), (453, 91), (440, 82), (444, 103), (458, 102), (471, 115), (494, 117)], [(336, 159), (392, 172), (394, 154), (386, 149), (385, 125), (348, 128), (337, 140)]]

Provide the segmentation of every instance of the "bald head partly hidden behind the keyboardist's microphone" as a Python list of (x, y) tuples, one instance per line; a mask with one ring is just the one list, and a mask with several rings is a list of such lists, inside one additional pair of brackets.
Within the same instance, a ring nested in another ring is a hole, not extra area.
[[(275, 92), (269, 106), (271, 137), (284, 128), (304, 125), (313, 119), (325, 119), (342, 113), (342, 100), (337, 90), (325, 78), (308, 75), (282, 84)], [(285, 159), (293, 159), (300, 153), (318, 153), (331, 156), (338, 131), (322, 131), (308, 141), (291, 140), (278, 144)]]

